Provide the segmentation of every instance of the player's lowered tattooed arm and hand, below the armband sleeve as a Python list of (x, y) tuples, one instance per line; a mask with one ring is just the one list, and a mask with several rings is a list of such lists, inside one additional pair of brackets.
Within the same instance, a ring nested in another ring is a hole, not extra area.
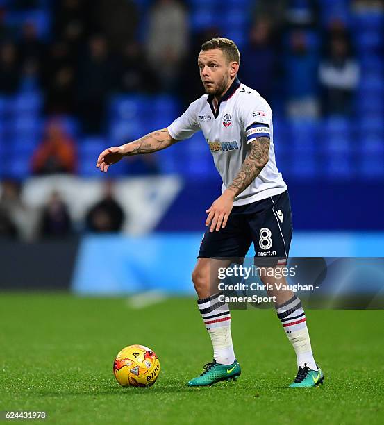
[(212, 206), (206, 210), (206, 213), (208, 213), (206, 226), (210, 225), (210, 232), (219, 231), (220, 228), (226, 226), (235, 197), (248, 188), (268, 162), (269, 137), (256, 138), (249, 142), (248, 147), (249, 153), (242, 163), (240, 172), (222, 196), (217, 198)]

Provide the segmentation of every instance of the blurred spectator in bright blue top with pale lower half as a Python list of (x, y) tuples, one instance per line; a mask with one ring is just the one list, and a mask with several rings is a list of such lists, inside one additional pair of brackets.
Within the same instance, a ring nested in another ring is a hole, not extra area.
[(317, 54), (310, 49), (305, 31), (290, 33), (285, 57), (285, 90), (287, 115), (292, 118), (317, 118)]

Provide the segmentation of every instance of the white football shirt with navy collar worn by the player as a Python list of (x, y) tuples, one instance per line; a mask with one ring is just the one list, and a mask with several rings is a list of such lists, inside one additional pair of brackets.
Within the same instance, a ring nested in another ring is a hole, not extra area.
[(270, 138), (269, 160), (255, 180), (240, 193), (234, 206), (247, 205), (287, 190), (276, 167), (272, 110), (256, 90), (236, 78), (219, 102), (217, 111), (212, 96), (203, 94), (168, 127), (175, 140), (185, 140), (201, 130), (222, 176), (222, 192), (240, 172), (248, 154), (247, 144), (257, 137)]

